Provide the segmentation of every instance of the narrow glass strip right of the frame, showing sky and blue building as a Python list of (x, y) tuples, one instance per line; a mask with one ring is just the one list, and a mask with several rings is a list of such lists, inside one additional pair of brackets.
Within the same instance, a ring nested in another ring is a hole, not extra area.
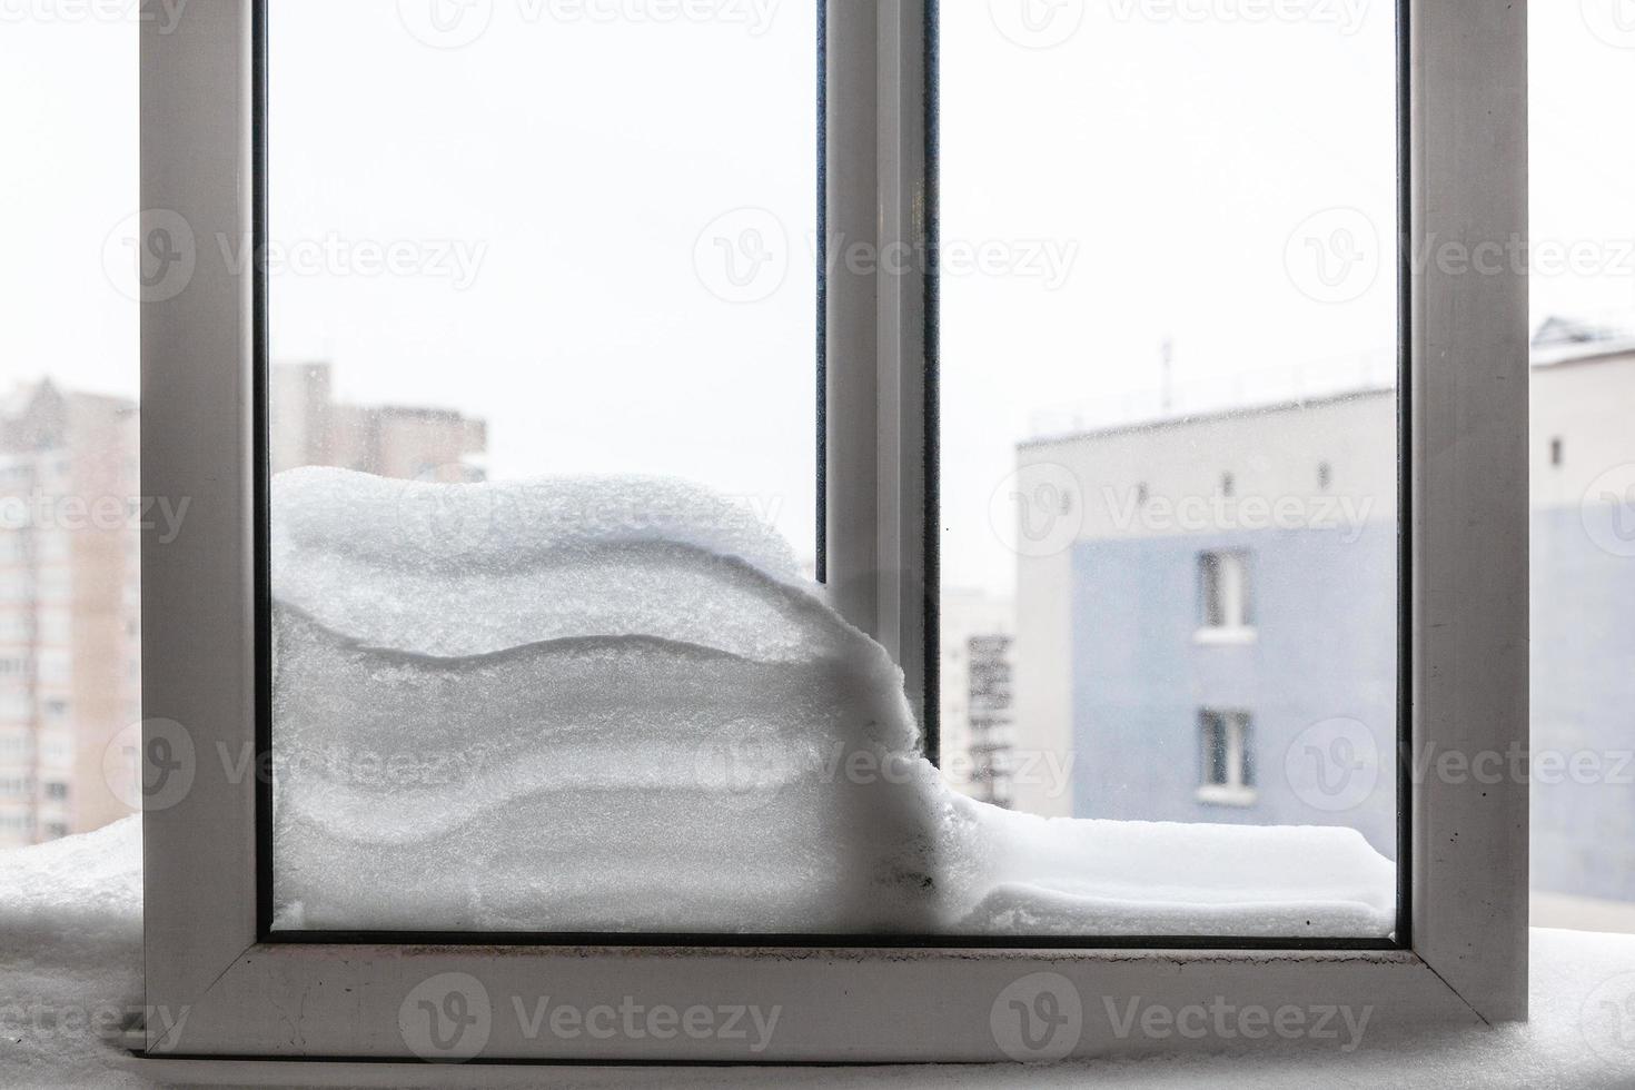
[(1635, 933), (1635, 147), (1606, 137), (1635, 96), (1632, 15), (1527, 18), (1532, 760), (1496, 766), (1530, 776), (1534, 923)]

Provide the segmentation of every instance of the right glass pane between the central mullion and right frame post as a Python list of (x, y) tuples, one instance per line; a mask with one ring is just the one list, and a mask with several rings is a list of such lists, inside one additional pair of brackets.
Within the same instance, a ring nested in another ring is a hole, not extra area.
[(1091, 931), (1395, 927), (1396, 36), (1341, 7), (942, 5), (943, 775), (1164, 845)]

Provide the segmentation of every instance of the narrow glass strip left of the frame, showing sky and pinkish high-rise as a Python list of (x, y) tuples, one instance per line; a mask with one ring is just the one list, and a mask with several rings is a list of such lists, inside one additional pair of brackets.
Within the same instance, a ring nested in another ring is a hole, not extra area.
[(186, 507), (139, 500), (136, 65), (134, 11), (3, 18), (0, 848), (141, 802), (139, 526)]

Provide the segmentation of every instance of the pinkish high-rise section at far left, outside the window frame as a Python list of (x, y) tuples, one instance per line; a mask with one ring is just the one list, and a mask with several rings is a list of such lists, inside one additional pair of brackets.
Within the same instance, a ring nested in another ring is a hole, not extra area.
[[(0, 402), (0, 845), (85, 832), (136, 797), (136, 405), (20, 386)], [(124, 783), (128, 780), (128, 783)]]

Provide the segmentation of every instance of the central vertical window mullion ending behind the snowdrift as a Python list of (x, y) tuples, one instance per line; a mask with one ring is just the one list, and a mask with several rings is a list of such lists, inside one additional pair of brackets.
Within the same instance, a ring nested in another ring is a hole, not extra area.
[(824, 559), (831, 600), (878, 639), (927, 729), (927, 2), (826, 16)]

